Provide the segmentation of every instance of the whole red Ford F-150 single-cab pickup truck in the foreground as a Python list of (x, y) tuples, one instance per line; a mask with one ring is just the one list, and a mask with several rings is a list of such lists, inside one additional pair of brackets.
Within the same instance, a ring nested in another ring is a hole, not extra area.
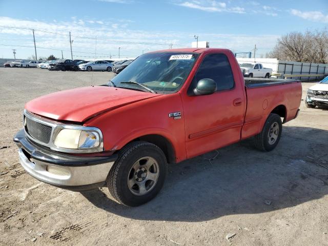
[(138, 206), (159, 192), (168, 163), (252, 136), (273, 150), (301, 93), (297, 80), (244, 79), (227, 49), (156, 51), (106, 85), (29, 101), (14, 141), (33, 177), (70, 190), (107, 183), (117, 201)]

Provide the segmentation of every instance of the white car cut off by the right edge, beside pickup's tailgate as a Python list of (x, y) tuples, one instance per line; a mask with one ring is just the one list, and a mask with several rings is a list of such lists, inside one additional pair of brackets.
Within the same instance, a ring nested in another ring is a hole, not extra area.
[(308, 89), (305, 105), (308, 108), (328, 107), (328, 76)]

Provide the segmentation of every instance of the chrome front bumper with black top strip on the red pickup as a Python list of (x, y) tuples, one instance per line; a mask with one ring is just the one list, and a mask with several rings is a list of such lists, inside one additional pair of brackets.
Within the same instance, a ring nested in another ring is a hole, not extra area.
[(24, 129), (14, 137), (22, 167), (34, 178), (50, 185), (73, 190), (104, 186), (117, 155), (85, 157), (64, 154), (36, 145)]

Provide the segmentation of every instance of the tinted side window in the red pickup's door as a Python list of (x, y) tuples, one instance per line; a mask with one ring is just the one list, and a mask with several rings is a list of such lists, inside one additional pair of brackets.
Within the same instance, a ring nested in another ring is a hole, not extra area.
[(229, 90), (234, 87), (234, 78), (228, 57), (224, 54), (207, 55), (194, 76), (191, 91), (202, 78), (211, 78), (216, 82), (217, 91)]

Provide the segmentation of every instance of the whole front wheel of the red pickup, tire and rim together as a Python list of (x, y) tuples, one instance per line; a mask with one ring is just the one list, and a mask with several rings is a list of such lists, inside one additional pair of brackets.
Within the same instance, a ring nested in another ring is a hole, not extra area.
[(153, 199), (163, 186), (167, 160), (160, 148), (136, 141), (123, 148), (107, 176), (111, 195), (125, 206)]

